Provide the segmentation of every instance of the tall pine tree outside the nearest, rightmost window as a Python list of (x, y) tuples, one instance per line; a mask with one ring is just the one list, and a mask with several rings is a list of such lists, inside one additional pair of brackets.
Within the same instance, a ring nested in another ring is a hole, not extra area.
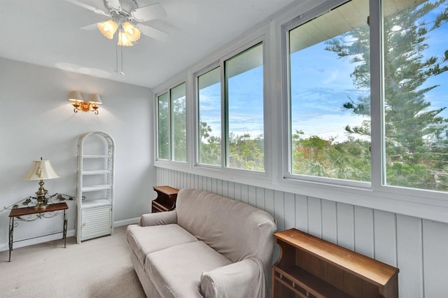
[[(425, 84), (429, 78), (448, 70), (448, 50), (441, 57), (425, 56), (428, 34), (447, 23), (445, 2), (426, 1), (384, 17), (384, 125), (387, 180), (391, 185), (447, 190), (440, 183), (440, 177), (446, 178), (447, 171), (440, 169), (448, 161), (448, 120), (440, 115), (445, 108), (431, 109), (426, 100), (426, 94), (438, 85)], [(433, 20), (424, 21), (437, 11)], [(347, 40), (352, 42), (346, 43)], [(367, 26), (332, 38), (325, 49), (339, 58), (351, 59), (356, 64), (351, 73), (353, 83), (370, 86)], [(370, 97), (350, 99), (343, 108), (357, 115), (370, 115)], [(370, 122), (365, 120), (358, 127), (348, 125), (346, 132), (368, 135)]]

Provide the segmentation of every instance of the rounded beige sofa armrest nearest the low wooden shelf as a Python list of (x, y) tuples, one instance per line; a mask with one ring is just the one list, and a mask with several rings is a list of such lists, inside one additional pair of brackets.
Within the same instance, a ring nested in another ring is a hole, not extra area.
[(267, 297), (262, 262), (248, 258), (202, 272), (201, 292), (207, 298)]

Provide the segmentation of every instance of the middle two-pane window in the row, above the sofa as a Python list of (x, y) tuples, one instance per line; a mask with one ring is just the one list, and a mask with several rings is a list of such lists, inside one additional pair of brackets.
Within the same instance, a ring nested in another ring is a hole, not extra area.
[(197, 76), (199, 164), (265, 170), (263, 78), (262, 43)]

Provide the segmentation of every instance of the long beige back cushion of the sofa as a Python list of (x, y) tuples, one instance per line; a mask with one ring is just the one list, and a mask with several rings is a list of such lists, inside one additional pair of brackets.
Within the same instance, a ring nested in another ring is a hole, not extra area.
[(272, 262), (276, 224), (269, 213), (211, 192), (182, 189), (178, 224), (232, 262), (258, 257)]

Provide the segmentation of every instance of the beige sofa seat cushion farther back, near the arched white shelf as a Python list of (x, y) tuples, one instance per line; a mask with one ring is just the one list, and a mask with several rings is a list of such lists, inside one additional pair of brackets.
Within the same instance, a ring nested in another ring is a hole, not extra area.
[(129, 225), (126, 229), (126, 238), (142, 266), (148, 253), (182, 243), (197, 241), (192, 234), (176, 224), (148, 227)]

